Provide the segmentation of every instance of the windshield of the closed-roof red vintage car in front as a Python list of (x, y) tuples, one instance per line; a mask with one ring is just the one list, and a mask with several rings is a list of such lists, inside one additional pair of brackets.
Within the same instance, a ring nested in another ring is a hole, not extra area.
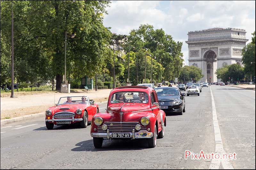
[(145, 92), (117, 92), (110, 98), (110, 103), (148, 103), (148, 94)]

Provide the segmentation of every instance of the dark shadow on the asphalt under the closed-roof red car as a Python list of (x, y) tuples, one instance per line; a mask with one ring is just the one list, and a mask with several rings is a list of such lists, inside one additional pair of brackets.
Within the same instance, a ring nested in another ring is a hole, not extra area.
[(148, 148), (148, 142), (145, 139), (126, 139), (126, 140), (103, 140), (102, 148), (94, 148), (93, 140), (86, 140), (76, 144), (76, 148), (71, 149), (71, 151), (129, 151), (129, 150), (143, 150)]

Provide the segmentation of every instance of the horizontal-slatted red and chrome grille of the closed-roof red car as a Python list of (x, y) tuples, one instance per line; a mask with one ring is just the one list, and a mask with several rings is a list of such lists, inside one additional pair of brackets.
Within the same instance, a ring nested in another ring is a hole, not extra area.
[[(110, 126), (110, 123), (113, 123), (112, 126)], [(104, 122), (102, 125), (105, 124), (108, 126), (109, 132), (112, 133), (132, 133), (132, 129), (135, 130), (135, 132), (138, 132), (140, 130), (147, 130), (147, 128), (140, 124), (140, 122)], [(135, 126), (139, 124), (141, 126), (140, 130), (136, 130)], [(102, 130), (102, 125), (98, 127), (98, 132), (107, 132), (107, 130)]]

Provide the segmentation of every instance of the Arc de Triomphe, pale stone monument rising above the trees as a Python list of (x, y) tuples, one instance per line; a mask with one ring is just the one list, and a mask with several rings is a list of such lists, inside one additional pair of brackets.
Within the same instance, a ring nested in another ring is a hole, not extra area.
[(188, 32), (188, 63), (202, 69), (200, 82), (219, 82), (215, 71), (224, 65), (242, 65), (242, 49), (246, 45), (245, 30), (211, 28)]

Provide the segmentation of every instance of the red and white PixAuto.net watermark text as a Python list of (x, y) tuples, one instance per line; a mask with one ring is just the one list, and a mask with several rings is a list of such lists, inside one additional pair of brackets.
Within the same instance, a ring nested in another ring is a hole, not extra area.
[(204, 151), (201, 151), (199, 154), (198, 153), (193, 153), (191, 151), (185, 151), (185, 159), (188, 158), (191, 159), (236, 159), (236, 153), (234, 152), (233, 154), (218, 154), (218, 153), (204, 153)]

